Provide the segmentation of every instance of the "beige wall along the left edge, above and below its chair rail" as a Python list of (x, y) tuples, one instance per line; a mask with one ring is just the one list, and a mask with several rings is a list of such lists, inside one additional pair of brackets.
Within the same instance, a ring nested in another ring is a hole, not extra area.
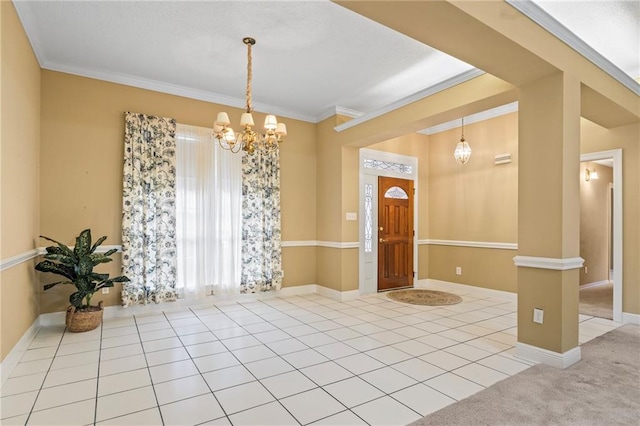
[[(13, 3), (0, 2), (0, 141), (3, 260), (38, 243), (40, 67)], [(0, 273), (0, 360), (38, 316), (34, 260)]]

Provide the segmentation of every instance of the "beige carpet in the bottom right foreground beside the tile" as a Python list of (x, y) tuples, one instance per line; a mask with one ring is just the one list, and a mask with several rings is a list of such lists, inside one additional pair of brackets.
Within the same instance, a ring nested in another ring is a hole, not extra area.
[(640, 424), (640, 326), (581, 348), (567, 369), (536, 365), (411, 425)]

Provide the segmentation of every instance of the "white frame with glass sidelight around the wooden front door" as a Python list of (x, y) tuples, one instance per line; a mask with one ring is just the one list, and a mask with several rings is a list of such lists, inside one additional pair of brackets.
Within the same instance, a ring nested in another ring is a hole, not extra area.
[[(383, 163), (402, 164), (407, 167), (405, 171), (395, 171), (378, 167), (365, 167), (365, 160), (380, 161)], [(395, 177), (412, 180), (415, 194), (413, 196), (413, 229), (416, 236), (413, 239), (413, 270), (416, 273), (414, 285), (418, 279), (418, 158), (407, 155), (394, 154), (384, 151), (361, 148), (359, 152), (359, 215), (358, 223), (358, 290), (360, 294), (373, 294), (378, 292), (378, 176)], [(365, 188), (371, 185), (373, 197), (371, 200), (372, 233), (371, 251), (365, 250), (366, 213), (365, 213)]]

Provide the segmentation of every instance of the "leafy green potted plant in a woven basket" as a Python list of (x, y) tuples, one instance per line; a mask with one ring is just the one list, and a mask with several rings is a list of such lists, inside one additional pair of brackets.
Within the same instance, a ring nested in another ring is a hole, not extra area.
[(99, 238), (91, 245), (91, 230), (85, 229), (76, 237), (76, 245), (71, 248), (49, 237), (40, 236), (47, 241), (56, 243), (46, 248), (45, 260), (36, 265), (40, 272), (50, 272), (61, 275), (65, 279), (44, 286), (49, 290), (59, 284), (70, 284), (76, 291), (69, 296), (66, 325), (72, 332), (89, 331), (97, 328), (102, 322), (102, 301), (98, 306), (91, 305), (91, 297), (102, 288), (113, 287), (115, 283), (128, 282), (129, 278), (120, 276), (109, 278), (109, 274), (100, 274), (93, 268), (101, 263), (111, 262), (110, 257), (117, 250), (111, 249), (104, 253), (96, 253), (97, 248), (107, 237)]

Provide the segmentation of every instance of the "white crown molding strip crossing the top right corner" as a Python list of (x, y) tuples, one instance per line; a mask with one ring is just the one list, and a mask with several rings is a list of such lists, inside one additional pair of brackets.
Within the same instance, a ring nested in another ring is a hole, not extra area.
[(640, 84), (613, 62), (602, 56), (580, 37), (549, 15), (544, 9), (531, 0), (505, 0), (510, 6), (527, 16), (536, 24), (549, 31), (567, 46), (584, 56), (591, 63), (609, 74), (627, 89), (640, 95)]

